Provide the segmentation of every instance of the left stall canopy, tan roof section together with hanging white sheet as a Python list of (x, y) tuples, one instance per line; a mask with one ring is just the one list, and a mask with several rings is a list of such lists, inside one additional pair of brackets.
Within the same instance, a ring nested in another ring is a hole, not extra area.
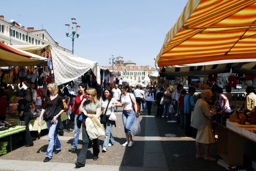
[(12, 47), (38, 55), (44, 55), (44, 52), (46, 52), (46, 55), (48, 53), (49, 58), (52, 59), (57, 85), (77, 79), (90, 69), (96, 76), (97, 83), (100, 84), (100, 66), (97, 62), (59, 50), (57, 47), (50, 45), (12, 45)]

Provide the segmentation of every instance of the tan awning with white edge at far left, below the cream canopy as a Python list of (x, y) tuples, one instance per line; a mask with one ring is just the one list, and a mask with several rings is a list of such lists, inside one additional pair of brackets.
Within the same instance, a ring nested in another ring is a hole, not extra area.
[(0, 42), (0, 66), (46, 66), (47, 59)]

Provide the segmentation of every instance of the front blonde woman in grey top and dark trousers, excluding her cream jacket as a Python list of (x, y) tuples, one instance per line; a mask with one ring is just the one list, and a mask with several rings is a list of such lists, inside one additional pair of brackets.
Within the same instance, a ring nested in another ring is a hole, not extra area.
[[(85, 115), (85, 119), (87, 117), (92, 118), (95, 115), (96, 118), (100, 117), (101, 114), (101, 104), (97, 100), (97, 92), (95, 89), (88, 89), (86, 90), (86, 94), (88, 96), (88, 100), (85, 98), (80, 107), (79, 113), (83, 113)], [(84, 109), (85, 106), (85, 109)], [(84, 167), (85, 166), (85, 159), (88, 150), (88, 143), (89, 143), (89, 136), (86, 132), (85, 122), (81, 123), (78, 121), (77, 125), (80, 128), (82, 126), (82, 137), (83, 137), (83, 145), (80, 153), (78, 154), (77, 160), (75, 162), (76, 168)], [(100, 153), (100, 145), (98, 143), (98, 138), (93, 139), (93, 160), (97, 160)]]

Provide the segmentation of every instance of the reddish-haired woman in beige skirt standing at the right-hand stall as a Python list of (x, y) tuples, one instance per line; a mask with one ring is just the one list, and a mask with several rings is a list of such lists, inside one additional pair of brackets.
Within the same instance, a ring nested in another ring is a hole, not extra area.
[(215, 109), (213, 109), (213, 111), (210, 110), (210, 106), (207, 103), (212, 96), (213, 93), (210, 90), (201, 92), (202, 98), (197, 101), (194, 108), (193, 117), (191, 118), (191, 127), (198, 129), (196, 138), (196, 158), (203, 158), (200, 153), (200, 145), (205, 144), (204, 159), (209, 161), (216, 160), (209, 154), (210, 146), (215, 142), (211, 126), (211, 117), (213, 117), (213, 112), (215, 112)]

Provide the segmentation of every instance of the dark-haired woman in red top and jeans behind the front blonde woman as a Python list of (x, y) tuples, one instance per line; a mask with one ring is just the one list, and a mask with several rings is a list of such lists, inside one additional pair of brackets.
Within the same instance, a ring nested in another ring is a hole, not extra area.
[(76, 113), (75, 113), (75, 120), (74, 120), (74, 132), (75, 132), (74, 133), (74, 141), (73, 141), (71, 149), (69, 149), (70, 152), (73, 152), (77, 149), (80, 128), (77, 127), (76, 118), (79, 115), (79, 106), (81, 105), (82, 100), (86, 96), (85, 88), (86, 88), (85, 84), (78, 85), (79, 93), (76, 95), (75, 103), (72, 105), (72, 108), (71, 108), (72, 112), (76, 110)]

